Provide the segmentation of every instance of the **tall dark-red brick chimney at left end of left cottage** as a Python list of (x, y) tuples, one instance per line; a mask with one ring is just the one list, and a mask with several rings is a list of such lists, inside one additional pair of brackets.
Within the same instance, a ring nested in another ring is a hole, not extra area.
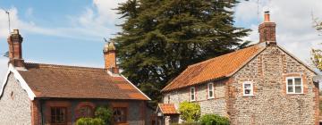
[(24, 68), (21, 48), (22, 39), (19, 29), (13, 29), (13, 33), (7, 39), (9, 44), (9, 63), (13, 64), (14, 67)]

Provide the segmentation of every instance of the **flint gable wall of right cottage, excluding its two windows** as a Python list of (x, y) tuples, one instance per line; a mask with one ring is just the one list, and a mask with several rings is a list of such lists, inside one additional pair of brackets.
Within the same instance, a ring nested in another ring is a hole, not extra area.
[[(229, 113), (233, 124), (315, 124), (318, 105), (314, 72), (276, 46), (233, 75)], [(304, 94), (286, 94), (285, 76), (303, 79)], [(242, 82), (252, 81), (254, 96), (242, 96)]]

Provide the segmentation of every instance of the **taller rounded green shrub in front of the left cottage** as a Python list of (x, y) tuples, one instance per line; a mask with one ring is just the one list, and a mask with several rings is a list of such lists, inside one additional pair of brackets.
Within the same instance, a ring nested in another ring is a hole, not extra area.
[(113, 112), (107, 107), (97, 107), (95, 118), (103, 120), (106, 124), (111, 124)]

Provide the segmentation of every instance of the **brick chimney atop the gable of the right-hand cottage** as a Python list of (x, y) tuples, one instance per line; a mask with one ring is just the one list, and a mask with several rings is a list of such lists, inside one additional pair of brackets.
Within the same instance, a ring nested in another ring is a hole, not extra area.
[(267, 43), (267, 45), (276, 44), (275, 22), (270, 21), (269, 12), (264, 14), (264, 22), (258, 26), (259, 43)]

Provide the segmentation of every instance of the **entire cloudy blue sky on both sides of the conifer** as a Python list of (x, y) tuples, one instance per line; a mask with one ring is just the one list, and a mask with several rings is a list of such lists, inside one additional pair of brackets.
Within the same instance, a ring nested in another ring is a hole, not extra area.
[[(120, 31), (123, 21), (114, 8), (126, 0), (0, 0), (10, 12), (12, 29), (20, 29), (25, 62), (103, 67), (103, 37)], [(234, 25), (252, 29), (243, 40), (258, 42), (258, 24), (270, 11), (276, 42), (310, 65), (311, 48), (322, 48), (322, 36), (312, 28), (312, 17), (322, 21), (321, 0), (250, 0), (233, 8)], [(8, 18), (0, 9), (0, 54), (8, 50)], [(1, 55), (2, 56), (2, 55)], [(0, 57), (0, 80), (7, 71)]]

